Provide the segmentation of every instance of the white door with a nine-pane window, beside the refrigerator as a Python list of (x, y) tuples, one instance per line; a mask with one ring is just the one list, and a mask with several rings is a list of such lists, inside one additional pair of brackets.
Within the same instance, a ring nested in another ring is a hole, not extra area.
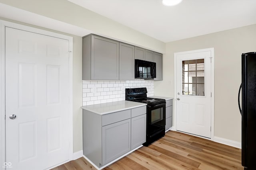
[(211, 51), (176, 53), (176, 129), (211, 137)]

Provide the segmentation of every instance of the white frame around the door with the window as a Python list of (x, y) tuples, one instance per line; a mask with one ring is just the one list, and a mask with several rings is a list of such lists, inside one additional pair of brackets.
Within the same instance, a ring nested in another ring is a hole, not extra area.
[[(214, 48), (208, 48), (208, 49), (198, 49), (198, 50), (192, 50), (192, 51), (184, 51), (184, 52), (178, 52), (178, 53), (174, 53), (174, 125), (172, 127), (172, 130), (177, 131), (176, 129), (176, 107), (177, 107), (177, 85), (176, 85), (176, 60), (178, 55), (182, 55), (182, 54), (189, 54), (189, 53), (200, 53), (200, 52), (206, 52), (206, 51), (210, 51), (211, 52), (211, 92), (212, 92), (212, 97), (211, 97), (211, 138), (210, 140), (214, 140)], [(188, 133), (189, 135), (193, 135)], [(201, 137), (198, 135), (193, 135), (193, 136), (197, 136), (197, 137)], [(206, 137), (201, 137), (204, 139), (209, 139)]]

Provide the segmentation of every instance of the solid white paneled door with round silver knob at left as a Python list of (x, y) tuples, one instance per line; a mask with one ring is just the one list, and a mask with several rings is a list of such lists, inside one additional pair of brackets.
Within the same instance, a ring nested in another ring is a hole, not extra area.
[(68, 81), (68, 40), (6, 27), (6, 162), (13, 170), (69, 159)]

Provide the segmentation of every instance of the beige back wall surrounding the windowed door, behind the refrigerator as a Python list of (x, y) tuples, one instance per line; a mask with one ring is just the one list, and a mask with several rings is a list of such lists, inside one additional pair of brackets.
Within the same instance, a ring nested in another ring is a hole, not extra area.
[(164, 80), (154, 83), (154, 94), (174, 96), (174, 53), (212, 47), (215, 57), (214, 136), (241, 142), (241, 115), (237, 101), (241, 54), (256, 51), (256, 25), (166, 43)]

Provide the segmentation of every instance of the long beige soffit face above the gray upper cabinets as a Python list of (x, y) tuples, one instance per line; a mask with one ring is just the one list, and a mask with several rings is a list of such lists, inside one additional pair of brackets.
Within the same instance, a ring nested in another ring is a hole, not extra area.
[[(72, 24), (90, 30), (91, 33), (97, 35), (121, 40), (124, 43), (138, 45), (156, 52), (165, 52), (165, 43), (162, 41), (149, 37), (67, 0), (0, 0), (0, 3)], [(33, 19), (36, 20), (36, 18), (31, 18), (31, 20)]]

